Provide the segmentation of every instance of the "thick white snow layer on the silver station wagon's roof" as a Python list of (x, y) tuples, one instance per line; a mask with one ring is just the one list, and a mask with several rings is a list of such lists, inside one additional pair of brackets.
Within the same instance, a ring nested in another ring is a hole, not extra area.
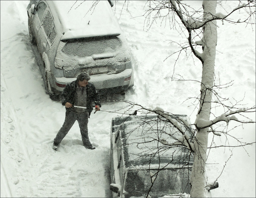
[[(121, 29), (108, 1), (52, 1), (65, 34), (61, 40), (119, 35)], [(87, 13), (88, 12), (88, 13)]]

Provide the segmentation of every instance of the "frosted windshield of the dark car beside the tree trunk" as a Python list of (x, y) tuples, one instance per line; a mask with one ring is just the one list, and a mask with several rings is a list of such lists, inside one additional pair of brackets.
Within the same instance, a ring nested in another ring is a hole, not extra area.
[(127, 170), (124, 195), (125, 197), (146, 197), (150, 189), (151, 175), (154, 184), (150, 191), (151, 197), (161, 197), (167, 194), (189, 193), (189, 174), (191, 168), (162, 169), (154, 180), (157, 169), (154, 170)]

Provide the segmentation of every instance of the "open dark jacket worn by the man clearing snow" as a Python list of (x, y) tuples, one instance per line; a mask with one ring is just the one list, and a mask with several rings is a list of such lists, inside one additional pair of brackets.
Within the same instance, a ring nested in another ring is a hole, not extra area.
[[(62, 105), (65, 106), (66, 102), (74, 104), (76, 87), (77, 87), (77, 80), (69, 82), (66, 85), (66, 87), (63, 89), (60, 96)], [(94, 102), (95, 105), (99, 105), (101, 107), (100, 96), (94, 84), (91, 82), (88, 82), (88, 85), (86, 85), (86, 91), (87, 91), (87, 98), (88, 98), (88, 103), (87, 103), (88, 117), (90, 118), (91, 112), (93, 110), (92, 102)], [(70, 107), (70, 108), (74, 108), (74, 107)], [(66, 107), (66, 111), (69, 110), (70, 108)]]

